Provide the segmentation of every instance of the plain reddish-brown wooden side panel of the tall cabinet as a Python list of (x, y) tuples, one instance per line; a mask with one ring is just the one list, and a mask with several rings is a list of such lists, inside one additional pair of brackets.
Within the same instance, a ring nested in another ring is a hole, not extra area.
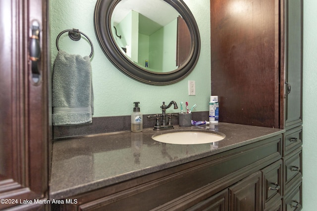
[(219, 121), (279, 127), (279, 1), (211, 0)]

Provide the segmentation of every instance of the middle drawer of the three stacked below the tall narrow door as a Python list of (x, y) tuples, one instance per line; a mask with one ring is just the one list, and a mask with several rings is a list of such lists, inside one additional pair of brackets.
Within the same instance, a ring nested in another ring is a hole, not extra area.
[(302, 178), (302, 147), (284, 158), (284, 195)]

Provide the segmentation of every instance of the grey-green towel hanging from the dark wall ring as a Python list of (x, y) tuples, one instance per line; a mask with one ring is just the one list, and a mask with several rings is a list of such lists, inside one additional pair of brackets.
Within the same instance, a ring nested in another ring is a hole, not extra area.
[(53, 125), (92, 122), (93, 89), (89, 56), (58, 51), (53, 64)]

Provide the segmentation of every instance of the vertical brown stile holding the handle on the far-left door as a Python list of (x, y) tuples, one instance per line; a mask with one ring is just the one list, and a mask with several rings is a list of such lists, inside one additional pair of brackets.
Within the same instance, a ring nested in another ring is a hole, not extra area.
[[(29, 185), (33, 191), (41, 194), (42, 197), (48, 197), (48, 169), (49, 158), (48, 149), (49, 141), (52, 140), (49, 137), (49, 80), (51, 74), (49, 73), (48, 62), (48, 31), (47, 29), (47, 7), (48, 2), (45, 0), (32, 0), (29, 2), (28, 7), (28, 22), (25, 23), (25, 31), (28, 34), (28, 43), (26, 50), (29, 50), (29, 37), (31, 37), (29, 26), (33, 20), (39, 20), (41, 24), (40, 33), (40, 47), (41, 57), (39, 63), (39, 70), (41, 73), (41, 82), (34, 84), (31, 79), (31, 63), (27, 59), (28, 76), (25, 77), (25, 84), (27, 85), (28, 93), (27, 97), (27, 112), (28, 122), (26, 131), (28, 131), (27, 137), (27, 149), (28, 152), (28, 172), (29, 172)], [(25, 55), (28, 55), (25, 52)]]

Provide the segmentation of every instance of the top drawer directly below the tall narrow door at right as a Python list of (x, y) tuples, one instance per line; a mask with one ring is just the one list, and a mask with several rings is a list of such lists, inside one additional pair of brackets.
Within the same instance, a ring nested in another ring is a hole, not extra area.
[(300, 126), (285, 133), (283, 139), (283, 156), (286, 156), (302, 145), (302, 129), (303, 127)]

